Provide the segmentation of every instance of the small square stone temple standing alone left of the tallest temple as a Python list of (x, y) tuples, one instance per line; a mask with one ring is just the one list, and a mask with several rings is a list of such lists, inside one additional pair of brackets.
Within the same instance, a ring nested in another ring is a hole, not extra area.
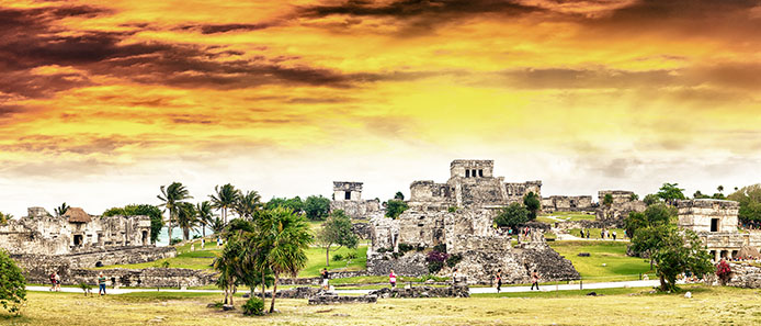
[(370, 218), (380, 212), (380, 201), (362, 199), (362, 182), (333, 181), (330, 211), (343, 210), (352, 218)]

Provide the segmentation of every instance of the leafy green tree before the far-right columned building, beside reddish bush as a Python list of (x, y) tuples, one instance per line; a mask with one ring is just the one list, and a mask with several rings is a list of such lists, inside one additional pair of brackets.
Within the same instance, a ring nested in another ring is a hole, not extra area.
[[(656, 274), (661, 291), (677, 291), (677, 276), (690, 271), (704, 276), (714, 271), (711, 255), (701, 238), (691, 229), (679, 229), (673, 225), (658, 228), (659, 245), (652, 254)], [(633, 239), (634, 241), (634, 239)]]

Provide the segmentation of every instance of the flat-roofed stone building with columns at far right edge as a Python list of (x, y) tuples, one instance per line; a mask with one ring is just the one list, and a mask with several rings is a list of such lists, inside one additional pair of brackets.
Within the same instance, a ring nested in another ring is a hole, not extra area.
[(679, 226), (694, 231), (715, 260), (732, 258), (743, 247), (761, 248), (761, 233), (737, 231), (738, 202), (698, 199), (679, 201), (677, 205)]

